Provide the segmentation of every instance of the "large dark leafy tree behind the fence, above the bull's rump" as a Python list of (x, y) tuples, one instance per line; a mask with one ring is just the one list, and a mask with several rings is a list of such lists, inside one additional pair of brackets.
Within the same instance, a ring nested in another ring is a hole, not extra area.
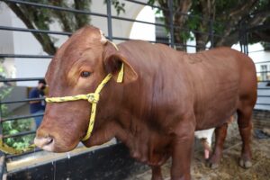
[[(158, 4), (168, 8), (168, 0), (149, 0), (148, 4)], [(269, 0), (173, 0), (174, 24), (180, 28), (175, 29), (175, 42), (185, 44), (186, 40), (194, 38), (197, 50), (205, 49), (211, 40), (209, 32), (211, 19), (213, 31), (220, 36), (214, 36), (213, 46), (231, 46), (238, 41), (238, 33), (241, 25), (248, 28), (261, 24), (269, 24), (270, 19)], [(163, 10), (165, 23), (169, 24), (169, 13)], [(192, 16), (186, 16), (190, 14)], [(188, 30), (184, 30), (184, 29)], [(253, 42), (270, 39), (268, 31), (252, 32)]]

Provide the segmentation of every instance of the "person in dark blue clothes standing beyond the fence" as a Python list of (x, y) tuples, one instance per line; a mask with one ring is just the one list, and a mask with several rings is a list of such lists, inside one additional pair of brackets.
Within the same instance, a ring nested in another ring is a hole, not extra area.
[[(29, 93), (29, 98), (42, 98), (45, 97), (44, 89), (46, 88), (46, 82), (44, 79), (39, 80), (39, 84), (37, 87), (31, 89)], [(45, 111), (45, 101), (44, 100), (34, 100), (30, 101), (30, 112), (32, 115), (36, 115), (39, 113), (43, 113)], [(43, 119), (43, 116), (34, 117), (36, 122), (36, 128), (38, 129), (40, 123)]]

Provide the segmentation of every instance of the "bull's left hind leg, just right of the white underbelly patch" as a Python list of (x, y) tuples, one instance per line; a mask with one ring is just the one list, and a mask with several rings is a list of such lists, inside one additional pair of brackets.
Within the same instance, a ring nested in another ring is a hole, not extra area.
[(217, 168), (222, 157), (223, 145), (226, 139), (228, 129), (228, 123), (224, 123), (222, 126), (215, 129), (215, 146), (213, 153), (209, 159), (208, 165), (211, 168)]

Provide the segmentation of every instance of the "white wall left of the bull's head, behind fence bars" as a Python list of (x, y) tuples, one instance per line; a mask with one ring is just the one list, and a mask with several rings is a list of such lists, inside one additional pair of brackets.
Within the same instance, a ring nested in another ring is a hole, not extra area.
[[(26, 28), (22, 21), (6, 6), (1, 3), (0, 24), (4, 26)], [(40, 43), (29, 32), (0, 31), (1, 53), (45, 55)], [(49, 59), (35, 58), (5, 58), (8, 66), (8, 77), (42, 77), (49, 64)], [(17, 82), (17, 85), (37, 85), (37, 82)]]

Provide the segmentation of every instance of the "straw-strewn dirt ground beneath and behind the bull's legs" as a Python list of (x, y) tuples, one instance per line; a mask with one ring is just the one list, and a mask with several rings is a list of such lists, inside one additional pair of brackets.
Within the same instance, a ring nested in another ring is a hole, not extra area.
[[(270, 138), (252, 139), (253, 166), (244, 169), (238, 166), (241, 152), (241, 141), (236, 122), (229, 125), (229, 132), (225, 142), (223, 157), (217, 169), (206, 166), (203, 159), (202, 147), (195, 150), (192, 162), (192, 176), (195, 180), (270, 180)], [(169, 178), (171, 161), (162, 167), (166, 180)], [(132, 180), (149, 180), (151, 171), (130, 177)]]

